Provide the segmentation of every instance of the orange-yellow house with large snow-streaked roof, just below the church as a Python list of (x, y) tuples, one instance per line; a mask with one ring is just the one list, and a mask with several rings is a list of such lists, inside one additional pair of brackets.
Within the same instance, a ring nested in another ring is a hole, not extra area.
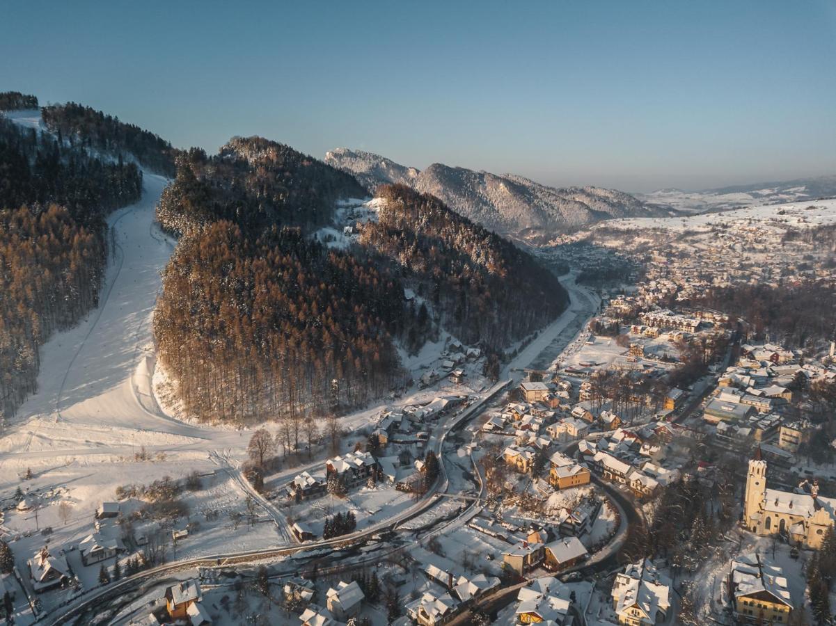
[(732, 560), (727, 583), (738, 622), (789, 623), (793, 602), (781, 567), (752, 552)]

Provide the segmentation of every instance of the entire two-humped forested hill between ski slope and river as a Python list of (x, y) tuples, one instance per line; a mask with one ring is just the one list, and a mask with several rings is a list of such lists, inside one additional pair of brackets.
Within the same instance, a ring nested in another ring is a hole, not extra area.
[[(191, 415), (324, 415), (400, 384), (441, 328), (488, 350), (557, 317), (567, 298), (526, 253), (407, 187), (385, 188), (359, 245), (314, 237), (353, 177), (273, 141), (190, 150), (158, 206), (181, 235), (154, 317), (161, 364)], [(407, 302), (405, 285), (419, 295)]]

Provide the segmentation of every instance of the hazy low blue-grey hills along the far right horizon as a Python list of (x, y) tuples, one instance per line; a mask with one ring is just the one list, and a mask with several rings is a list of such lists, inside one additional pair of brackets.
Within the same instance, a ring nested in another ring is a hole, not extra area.
[(728, 211), (747, 206), (781, 204), (783, 202), (806, 202), (836, 196), (836, 176), (798, 178), (794, 181), (762, 182), (753, 185), (736, 185), (706, 189), (704, 191), (682, 191), (681, 189), (660, 189), (649, 194), (636, 194), (649, 206), (661, 210)]

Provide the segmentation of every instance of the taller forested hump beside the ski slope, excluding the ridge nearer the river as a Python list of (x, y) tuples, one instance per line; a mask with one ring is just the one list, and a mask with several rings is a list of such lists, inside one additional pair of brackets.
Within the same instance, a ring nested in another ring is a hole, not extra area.
[(154, 332), (189, 413), (324, 415), (402, 382), (403, 285), (311, 237), (339, 198), (366, 195), (352, 176), (258, 137), (177, 165), (157, 215), (181, 241)]

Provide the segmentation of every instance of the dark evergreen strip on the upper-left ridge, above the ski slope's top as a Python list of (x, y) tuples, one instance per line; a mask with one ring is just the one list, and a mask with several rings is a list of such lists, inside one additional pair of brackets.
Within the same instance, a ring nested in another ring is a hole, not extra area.
[(45, 106), (41, 116), (48, 130), (70, 145), (80, 144), (110, 155), (133, 155), (140, 165), (157, 174), (175, 174), (177, 151), (168, 141), (139, 126), (74, 102)]

